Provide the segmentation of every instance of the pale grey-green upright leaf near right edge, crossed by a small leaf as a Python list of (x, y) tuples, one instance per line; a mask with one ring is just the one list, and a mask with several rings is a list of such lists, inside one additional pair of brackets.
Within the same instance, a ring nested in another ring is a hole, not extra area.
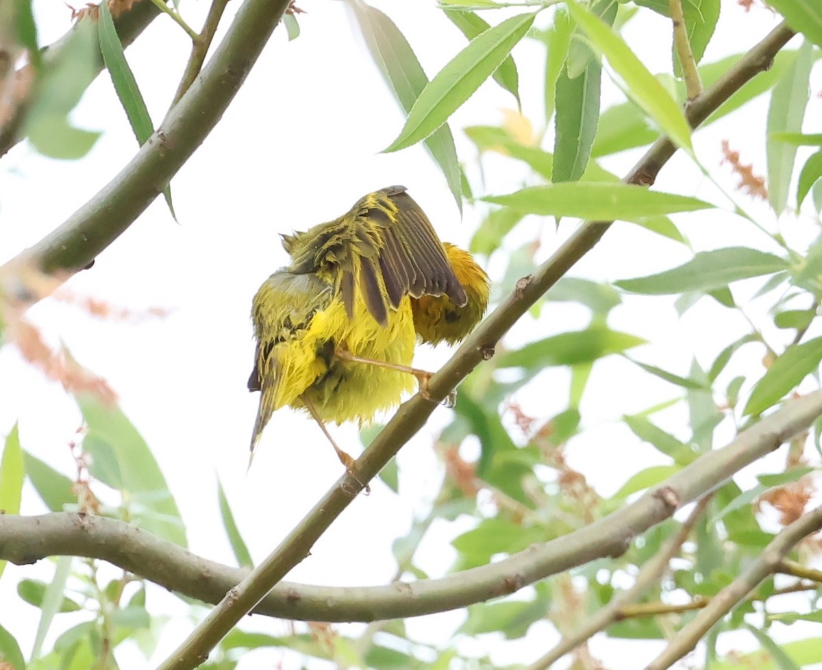
[(771, 139), (778, 132), (799, 132), (805, 108), (810, 97), (808, 79), (813, 65), (813, 49), (809, 42), (802, 44), (791, 66), (774, 86), (768, 109), (768, 200), (777, 215), (787, 206), (788, 188), (791, 185), (793, 164), (797, 147)]

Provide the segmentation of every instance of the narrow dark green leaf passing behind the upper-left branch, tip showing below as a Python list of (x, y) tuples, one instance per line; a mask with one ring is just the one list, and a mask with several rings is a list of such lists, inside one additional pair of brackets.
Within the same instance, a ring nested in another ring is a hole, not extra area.
[[(114, 90), (125, 110), (128, 122), (132, 126), (137, 143), (143, 146), (148, 141), (151, 133), (154, 132), (154, 124), (151, 122), (148, 107), (145, 106), (145, 99), (134, 78), (132, 68), (128, 67), (126, 54), (122, 50), (120, 37), (114, 28), (114, 21), (111, 17), (109, 3), (103, 2), (100, 5), (98, 37), (100, 53), (103, 54), (103, 62), (111, 75)], [(165, 204), (169, 207), (172, 218), (176, 221), (177, 215), (174, 213), (174, 206), (171, 200), (171, 187), (166, 185), (163, 189)]]

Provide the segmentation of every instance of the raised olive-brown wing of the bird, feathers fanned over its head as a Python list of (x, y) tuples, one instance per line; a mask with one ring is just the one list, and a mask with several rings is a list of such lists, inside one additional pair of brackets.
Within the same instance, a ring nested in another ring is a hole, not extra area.
[(293, 271), (334, 282), (349, 317), (358, 291), (383, 325), (405, 295), (467, 300), (431, 221), (403, 186), (369, 193), (339, 219), (285, 237), (284, 246)]

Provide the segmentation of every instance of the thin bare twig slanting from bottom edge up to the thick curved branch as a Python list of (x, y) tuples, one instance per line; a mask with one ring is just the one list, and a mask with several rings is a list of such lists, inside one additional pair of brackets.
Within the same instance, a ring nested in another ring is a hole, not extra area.
[(700, 501), (697, 502), (693, 511), (690, 512), (688, 518), (680, 526), (677, 534), (669, 538), (663, 548), (642, 566), (630, 589), (614, 596), (610, 603), (586, 619), (584, 624), (574, 631), (573, 635), (564, 635), (556, 647), (534, 661), (529, 665), (527, 670), (545, 670), (545, 668), (551, 668), (556, 661), (582, 645), (585, 640), (589, 640), (595, 633), (607, 628), (607, 626), (610, 626), (614, 621), (618, 621), (620, 619), (621, 608), (628, 603), (633, 603), (637, 598), (640, 598), (645, 591), (653, 585), (658, 584), (660, 577), (662, 577), (663, 573), (667, 570), (671, 559), (677, 556), (682, 543), (686, 541), (694, 524), (705, 511), (710, 499), (710, 494), (700, 498)]

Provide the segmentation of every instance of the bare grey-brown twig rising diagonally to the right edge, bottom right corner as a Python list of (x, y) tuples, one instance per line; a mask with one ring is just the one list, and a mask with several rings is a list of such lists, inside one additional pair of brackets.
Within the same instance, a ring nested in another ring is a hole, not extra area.
[(711, 598), (710, 603), (683, 627), (646, 670), (665, 670), (688, 654), (711, 627), (745, 600), (769, 575), (779, 570), (788, 552), (811, 533), (822, 529), (822, 506), (786, 526), (736, 580)]

